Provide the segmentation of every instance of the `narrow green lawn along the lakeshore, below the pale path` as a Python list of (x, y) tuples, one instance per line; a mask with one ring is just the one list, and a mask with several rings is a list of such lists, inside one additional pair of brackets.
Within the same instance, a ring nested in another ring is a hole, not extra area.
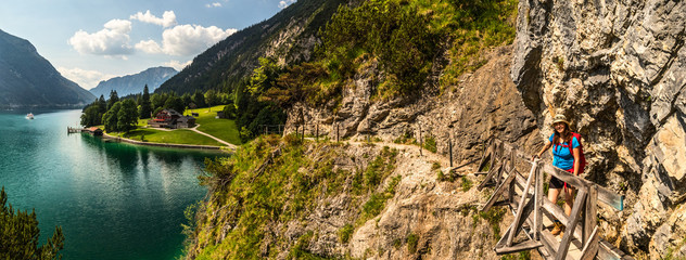
[(170, 143), (170, 144), (198, 144), (198, 145), (215, 145), (223, 146), (219, 142), (193, 132), (187, 129), (177, 129), (173, 131), (162, 131), (155, 129), (139, 128), (126, 134), (107, 133), (111, 135), (123, 136), (135, 141), (141, 141), (141, 136), (145, 142), (150, 143)]

